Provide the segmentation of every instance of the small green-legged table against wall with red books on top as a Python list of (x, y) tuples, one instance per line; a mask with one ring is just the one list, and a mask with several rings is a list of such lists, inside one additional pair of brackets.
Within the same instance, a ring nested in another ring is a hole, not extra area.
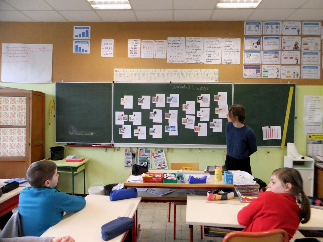
[(85, 195), (85, 163), (89, 161), (89, 158), (85, 158), (81, 162), (66, 162), (66, 158), (62, 160), (51, 160), (57, 165), (57, 172), (61, 173), (71, 173), (72, 175), (72, 195), (74, 195), (74, 176), (83, 171), (83, 189)]

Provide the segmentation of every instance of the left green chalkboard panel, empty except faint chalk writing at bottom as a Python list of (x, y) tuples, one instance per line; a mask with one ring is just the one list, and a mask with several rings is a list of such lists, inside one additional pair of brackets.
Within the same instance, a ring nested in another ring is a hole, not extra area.
[(55, 83), (56, 143), (111, 143), (111, 83)]

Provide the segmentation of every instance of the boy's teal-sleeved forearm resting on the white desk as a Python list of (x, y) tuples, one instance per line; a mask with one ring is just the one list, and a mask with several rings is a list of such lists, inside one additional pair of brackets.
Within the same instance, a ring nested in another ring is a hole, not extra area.
[(84, 197), (68, 195), (65, 192), (55, 191), (53, 195), (55, 206), (64, 212), (76, 212), (85, 207)]

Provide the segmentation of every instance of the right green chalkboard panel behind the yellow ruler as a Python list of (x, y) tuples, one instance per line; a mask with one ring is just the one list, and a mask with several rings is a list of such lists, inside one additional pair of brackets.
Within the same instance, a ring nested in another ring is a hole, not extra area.
[(296, 84), (234, 84), (234, 104), (245, 107), (245, 123), (257, 136), (257, 146), (281, 146), (281, 140), (263, 140), (263, 126), (280, 126), (283, 135), (290, 87), (294, 87), (288, 117), (287, 142), (294, 142)]

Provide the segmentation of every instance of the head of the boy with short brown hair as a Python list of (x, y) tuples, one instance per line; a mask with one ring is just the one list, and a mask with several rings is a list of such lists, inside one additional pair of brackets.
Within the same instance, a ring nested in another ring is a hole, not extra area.
[(56, 168), (57, 165), (52, 161), (36, 161), (27, 170), (27, 181), (34, 188), (45, 187), (45, 181), (53, 178)]

